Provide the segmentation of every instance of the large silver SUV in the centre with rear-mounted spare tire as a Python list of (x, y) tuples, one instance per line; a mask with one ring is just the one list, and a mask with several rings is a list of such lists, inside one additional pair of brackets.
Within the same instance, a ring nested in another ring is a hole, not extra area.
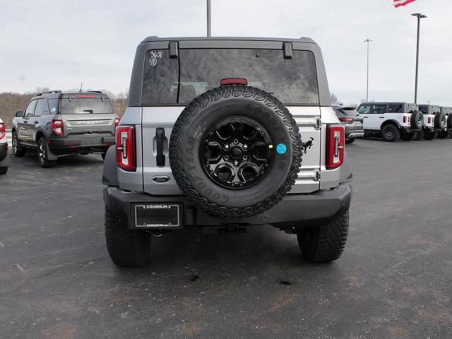
[(297, 234), (308, 260), (335, 260), (349, 225), (344, 146), (313, 40), (148, 37), (105, 157), (109, 256), (138, 266), (150, 234), (270, 224)]

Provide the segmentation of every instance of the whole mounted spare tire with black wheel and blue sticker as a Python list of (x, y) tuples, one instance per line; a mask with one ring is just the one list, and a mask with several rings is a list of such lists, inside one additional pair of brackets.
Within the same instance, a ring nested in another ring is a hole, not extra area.
[(295, 119), (278, 99), (246, 85), (208, 90), (179, 115), (169, 164), (180, 189), (212, 215), (246, 217), (290, 191), (302, 161)]

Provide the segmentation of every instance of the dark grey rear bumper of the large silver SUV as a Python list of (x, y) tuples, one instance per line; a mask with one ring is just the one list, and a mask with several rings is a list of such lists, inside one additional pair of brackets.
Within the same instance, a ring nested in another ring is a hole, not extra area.
[(271, 224), (281, 229), (319, 226), (331, 222), (350, 207), (352, 188), (340, 185), (329, 191), (313, 194), (288, 194), (270, 210), (249, 218), (221, 218), (198, 209), (185, 196), (151, 196), (150, 194), (122, 191), (118, 187), (104, 189), (104, 201), (109, 211), (129, 228), (135, 228), (133, 203), (179, 203), (182, 206), (182, 227), (219, 225)]

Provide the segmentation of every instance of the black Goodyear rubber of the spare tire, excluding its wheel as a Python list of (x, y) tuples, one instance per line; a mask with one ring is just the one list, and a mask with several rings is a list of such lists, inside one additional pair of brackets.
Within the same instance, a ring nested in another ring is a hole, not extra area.
[[(278, 102), (273, 105), (271, 102), (273, 107), (270, 107), (268, 100), (264, 97), (261, 97), (264, 100), (256, 100), (256, 93), (263, 95), (263, 91), (256, 88), (251, 92), (249, 91), (251, 88), (243, 89), (243, 87), (229, 88), (234, 95), (226, 97), (223, 96), (227, 93), (226, 88), (216, 88), (210, 93), (204, 93), (199, 100), (194, 100), (193, 105), (190, 104), (184, 109), (187, 112), (182, 112), (179, 117), (184, 121), (178, 119), (175, 126), (179, 126), (179, 129), (176, 128), (177, 133), (174, 133), (173, 129), (171, 136), (169, 159), (177, 183), (192, 200), (214, 213), (221, 213), (224, 210), (225, 213), (230, 214), (231, 210), (251, 208), (263, 203), (285, 186), (287, 176), (291, 169), (293, 170), (294, 164), (295, 167), (299, 167), (300, 164), (299, 159), (294, 159), (296, 153), (301, 157), (298, 129), (295, 125), (297, 135), (294, 136), (293, 131), (290, 133), (290, 129), (287, 129), (287, 121), (282, 117), (283, 114), (276, 112), (278, 109), (285, 109), (283, 104)], [(249, 93), (254, 95), (246, 97)], [(185, 117), (182, 117), (184, 115)], [(287, 146), (287, 152), (283, 155), (276, 153), (275, 147), (273, 148), (275, 156), (266, 175), (259, 182), (245, 189), (227, 189), (216, 184), (206, 174), (200, 159), (200, 146), (204, 133), (214, 124), (230, 117), (253, 119), (266, 129), (273, 145), (285, 143)], [(177, 159), (180, 160), (180, 164), (175, 164)], [(185, 178), (178, 175), (180, 172), (178, 165), (182, 166)], [(295, 184), (295, 177), (291, 179), (292, 184)], [(273, 203), (277, 201), (275, 199)], [(268, 208), (273, 206), (271, 201), (266, 203)]]

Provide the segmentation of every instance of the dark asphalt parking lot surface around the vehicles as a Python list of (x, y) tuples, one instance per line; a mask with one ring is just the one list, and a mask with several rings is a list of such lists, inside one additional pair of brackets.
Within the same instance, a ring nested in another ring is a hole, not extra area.
[(117, 268), (100, 155), (0, 177), (0, 338), (451, 338), (452, 141), (358, 140), (343, 256), (295, 236), (174, 232)]

